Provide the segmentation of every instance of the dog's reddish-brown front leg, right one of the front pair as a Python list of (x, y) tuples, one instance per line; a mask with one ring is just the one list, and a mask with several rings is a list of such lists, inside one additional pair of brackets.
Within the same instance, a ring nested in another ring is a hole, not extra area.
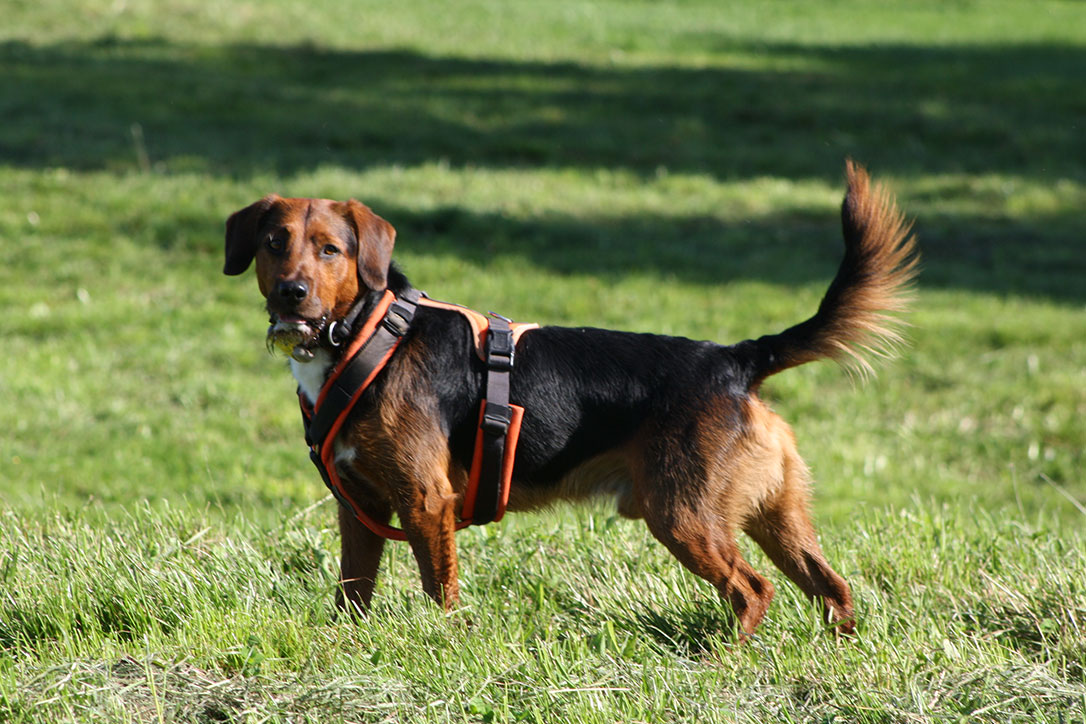
[(400, 521), (418, 561), (422, 590), (446, 611), (459, 600), (456, 577), (456, 496), (447, 478), (406, 486)]

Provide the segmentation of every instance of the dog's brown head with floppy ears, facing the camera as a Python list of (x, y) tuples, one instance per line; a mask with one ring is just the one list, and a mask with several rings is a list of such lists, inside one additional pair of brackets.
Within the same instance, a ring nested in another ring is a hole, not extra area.
[(256, 261), (267, 300), (268, 345), (312, 343), (367, 291), (388, 284), (392, 225), (357, 201), (269, 195), (226, 221), (226, 266), (239, 275)]

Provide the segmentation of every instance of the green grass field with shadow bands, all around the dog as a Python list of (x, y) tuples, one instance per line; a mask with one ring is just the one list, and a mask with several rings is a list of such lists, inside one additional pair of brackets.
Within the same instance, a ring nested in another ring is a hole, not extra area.
[[(0, 722), (1086, 722), (1086, 4), (7, 0)], [(355, 196), (438, 299), (737, 341), (815, 308), (843, 161), (924, 257), (868, 383), (767, 385), (855, 587), (736, 646), (605, 505), (391, 546), (333, 503), (226, 216)]]

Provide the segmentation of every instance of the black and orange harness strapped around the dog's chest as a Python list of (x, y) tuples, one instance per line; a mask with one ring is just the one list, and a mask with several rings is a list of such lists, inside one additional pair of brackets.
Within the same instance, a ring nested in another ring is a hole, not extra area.
[(516, 457), (517, 440), (525, 410), (508, 402), (509, 371), (520, 336), (539, 325), (510, 323), (497, 315), (478, 312), (446, 302), (435, 302), (417, 292), (396, 297), (391, 291), (378, 302), (355, 335), (342, 359), (320, 388), (317, 401), (310, 405), (299, 391), (310, 458), (321, 479), (363, 525), (386, 538), (406, 541), (399, 528), (374, 520), (355, 503), (340, 480), (334, 462), (334, 440), (362, 393), (381, 372), (411, 326), (417, 306), (456, 312), (471, 326), (476, 353), (487, 363), (487, 392), (479, 406), (479, 425), (468, 486), (456, 530), (484, 525), (501, 520), (509, 500), (509, 484)]

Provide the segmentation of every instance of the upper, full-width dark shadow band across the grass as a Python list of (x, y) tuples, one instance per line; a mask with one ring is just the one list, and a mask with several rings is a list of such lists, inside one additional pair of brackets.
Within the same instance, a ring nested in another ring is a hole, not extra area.
[(0, 154), (29, 166), (130, 165), (139, 124), (151, 161), (237, 174), (445, 158), (837, 178), (849, 154), (898, 173), (1083, 174), (1081, 48), (714, 50), (745, 54), (749, 67), (8, 42)]

